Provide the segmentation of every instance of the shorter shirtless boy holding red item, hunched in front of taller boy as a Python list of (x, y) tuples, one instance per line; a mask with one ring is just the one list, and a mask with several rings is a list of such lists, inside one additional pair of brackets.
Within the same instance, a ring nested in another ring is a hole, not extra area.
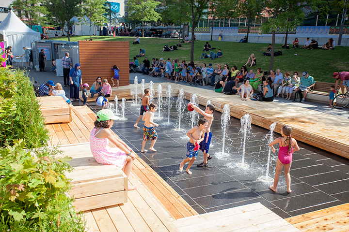
[(186, 169), (187, 173), (191, 175), (190, 167), (194, 163), (198, 154), (198, 145), (204, 140), (204, 134), (207, 129), (208, 122), (205, 118), (200, 118), (198, 126), (195, 126), (188, 131), (187, 136), (190, 138), (187, 144), (187, 154), (183, 162), (180, 163), (179, 171), (183, 171), (183, 166), (189, 162)]

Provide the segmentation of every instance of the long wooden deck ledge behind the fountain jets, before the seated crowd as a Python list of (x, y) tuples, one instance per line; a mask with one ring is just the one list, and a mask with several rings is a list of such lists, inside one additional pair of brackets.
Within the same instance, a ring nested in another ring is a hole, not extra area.
[[(187, 100), (190, 100), (191, 95), (195, 93), (200, 104), (205, 105), (207, 100), (210, 100), (220, 112), (225, 104), (229, 104), (231, 116), (241, 118), (245, 114), (250, 114), (253, 124), (268, 130), (273, 122), (276, 122), (275, 131), (277, 132), (281, 130), (283, 125), (291, 126), (293, 138), (349, 158), (349, 137), (343, 136), (349, 131), (349, 119), (335, 115), (329, 117), (328, 114), (315, 110), (279, 102), (241, 101), (237, 95), (225, 95), (203, 88), (169, 84), (174, 90), (174, 95), (178, 93), (180, 88), (183, 88)], [(145, 84), (145, 87), (148, 85)], [(133, 86), (119, 87), (117, 91), (113, 92), (118, 94), (118, 99), (132, 99), (131, 89)], [(164, 86), (163, 89), (162, 94), (165, 96), (166, 87)], [(115, 96), (111, 96), (110, 100), (114, 98)], [(89, 100), (94, 101), (93, 99)]]

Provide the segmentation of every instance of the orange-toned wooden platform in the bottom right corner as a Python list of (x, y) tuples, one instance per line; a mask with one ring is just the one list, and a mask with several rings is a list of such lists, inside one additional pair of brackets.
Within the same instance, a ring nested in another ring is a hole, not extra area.
[(349, 203), (285, 219), (301, 232), (348, 232)]

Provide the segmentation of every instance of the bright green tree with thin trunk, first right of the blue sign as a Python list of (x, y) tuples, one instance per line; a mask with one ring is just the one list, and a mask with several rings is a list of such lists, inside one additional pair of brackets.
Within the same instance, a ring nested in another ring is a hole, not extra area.
[(161, 16), (155, 11), (159, 5), (159, 1), (155, 0), (128, 0), (127, 15), (132, 20), (142, 22), (142, 34), (144, 37), (144, 22), (158, 21)]

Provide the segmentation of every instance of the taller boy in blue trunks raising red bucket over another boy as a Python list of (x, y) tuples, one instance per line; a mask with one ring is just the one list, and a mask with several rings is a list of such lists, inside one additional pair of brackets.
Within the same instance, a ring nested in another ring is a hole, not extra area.
[(190, 102), (189, 104), (196, 112), (198, 112), (199, 114), (204, 116), (204, 118), (208, 122), (206, 131), (205, 131), (204, 140), (200, 143), (200, 150), (202, 150), (202, 152), (204, 152), (204, 162), (197, 165), (198, 167), (207, 167), (207, 165), (208, 165), (207, 160), (212, 159), (212, 156), (210, 156), (208, 154), (208, 150), (209, 150), (209, 145), (211, 143), (211, 138), (212, 138), (211, 125), (213, 122), (213, 112), (215, 112), (216, 107), (213, 104), (208, 104), (206, 106), (205, 111), (203, 111), (202, 109), (200, 109), (199, 107), (197, 107), (193, 103)]

